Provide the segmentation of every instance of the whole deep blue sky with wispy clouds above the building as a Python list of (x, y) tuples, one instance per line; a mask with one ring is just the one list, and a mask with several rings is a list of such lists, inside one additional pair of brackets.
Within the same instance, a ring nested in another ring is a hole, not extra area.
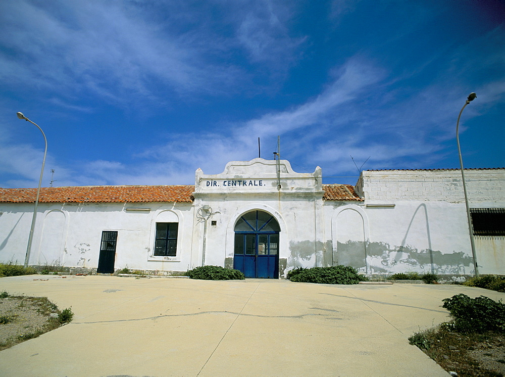
[(193, 184), (281, 157), (363, 169), (505, 166), (505, 3), (0, 2), (0, 187)]

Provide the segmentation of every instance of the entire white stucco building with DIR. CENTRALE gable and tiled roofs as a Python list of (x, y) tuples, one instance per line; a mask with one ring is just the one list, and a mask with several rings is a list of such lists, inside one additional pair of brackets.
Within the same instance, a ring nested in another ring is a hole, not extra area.
[[(505, 169), (468, 169), (480, 273), (505, 274)], [(0, 189), (0, 261), (25, 258), (36, 189)], [(461, 172), (362, 172), (322, 184), (286, 160), (200, 169), (193, 185), (42, 188), (30, 265), (180, 273), (221, 265), (249, 277), (337, 264), (363, 273), (473, 274)]]

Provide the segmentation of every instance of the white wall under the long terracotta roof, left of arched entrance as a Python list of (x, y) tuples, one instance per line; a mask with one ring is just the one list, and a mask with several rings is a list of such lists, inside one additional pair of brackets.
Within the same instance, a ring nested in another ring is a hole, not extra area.
[[(128, 210), (144, 208), (149, 211)], [(33, 204), (0, 205), (0, 261), (25, 259)], [(179, 222), (176, 257), (153, 256), (156, 222)], [(98, 265), (103, 230), (117, 230), (115, 268), (186, 271), (193, 243), (192, 203), (38, 205), (31, 265)]]

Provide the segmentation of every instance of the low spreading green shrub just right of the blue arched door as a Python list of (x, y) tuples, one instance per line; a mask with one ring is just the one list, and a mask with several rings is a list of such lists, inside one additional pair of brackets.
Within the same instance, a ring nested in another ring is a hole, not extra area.
[(318, 284), (358, 284), (368, 281), (368, 277), (358, 274), (349, 266), (306, 268), (291, 276), (291, 281), (312, 282)]

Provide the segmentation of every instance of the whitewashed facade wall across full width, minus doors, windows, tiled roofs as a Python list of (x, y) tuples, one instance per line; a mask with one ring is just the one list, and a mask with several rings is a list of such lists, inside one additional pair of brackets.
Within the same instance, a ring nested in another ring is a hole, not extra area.
[[(472, 274), (459, 174), (455, 170), (365, 171), (357, 186), (365, 202), (323, 203), (318, 199), (320, 183), (297, 191), (284, 179), (286, 184), (278, 192), (271, 187), (276, 184), (272, 178), (273, 183), (261, 186), (260, 192), (236, 188), (229, 193), (201, 192), (194, 203), (42, 203), (30, 264), (96, 268), (102, 231), (117, 230), (115, 268), (186, 271), (202, 264), (204, 221), (197, 210), (207, 204), (214, 213), (205, 240), (207, 265), (233, 266), (235, 223), (248, 211), (262, 210), (273, 215), (281, 228), (280, 276), (298, 266), (337, 264), (366, 273)], [(505, 207), (505, 170), (470, 170), (467, 181), (471, 207)], [(32, 209), (33, 204), (0, 203), (0, 261), (23, 263)], [(153, 256), (156, 222), (175, 221), (179, 222), (177, 256)], [(504, 238), (475, 237), (475, 242), (480, 272), (505, 274)]]

